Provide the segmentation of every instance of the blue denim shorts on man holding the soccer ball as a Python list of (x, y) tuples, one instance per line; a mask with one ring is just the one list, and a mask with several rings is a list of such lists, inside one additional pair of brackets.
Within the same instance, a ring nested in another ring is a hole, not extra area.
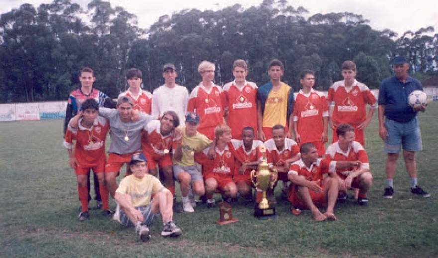
[(384, 147), (386, 153), (399, 153), (400, 145), (405, 151), (421, 151), (420, 127), (417, 117), (407, 123), (385, 119), (385, 128), (388, 132)]

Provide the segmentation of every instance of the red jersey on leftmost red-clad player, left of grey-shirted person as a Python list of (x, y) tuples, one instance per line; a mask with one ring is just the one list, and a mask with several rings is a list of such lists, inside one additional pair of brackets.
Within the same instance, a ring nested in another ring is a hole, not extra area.
[(95, 167), (99, 162), (106, 159), (105, 141), (109, 130), (108, 121), (102, 116), (97, 116), (93, 126), (88, 129), (81, 125), (82, 118), (78, 120), (78, 127), (67, 127), (64, 137), (64, 146), (68, 149), (73, 147), (75, 140), (74, 155), (80, 167)]

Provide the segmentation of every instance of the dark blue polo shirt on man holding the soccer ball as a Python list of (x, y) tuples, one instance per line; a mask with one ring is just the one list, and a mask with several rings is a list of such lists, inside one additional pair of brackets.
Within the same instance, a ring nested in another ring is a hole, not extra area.
[(414, 90), (423, 90), (420, 81), (408, 76), (406, 83), (395, 76), (382, 81), (377, 103), (385, 106), (385, 116), (389, 120), (407, 123), (417, 116), (417, 112), (408, 104), (408, 96)]

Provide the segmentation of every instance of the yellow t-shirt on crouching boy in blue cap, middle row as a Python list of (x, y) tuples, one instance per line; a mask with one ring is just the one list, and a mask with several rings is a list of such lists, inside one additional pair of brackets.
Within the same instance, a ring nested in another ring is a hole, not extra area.
[(193, 158), (195, 153), (204, 150), (212, 143), (212, 141), (200, 132), (197, 132), (194, 136), (188, 136), (186, 134), (186, 127), (182, 127), (181, 131), (183, 131), (183, 138), (181, 143), (183, 157), (181, 158), (181, 161), (176, 161), (175, 159), (173, 159), (172, 162), (173, 164), (182, 167), (193, 166), (195, 165), (195, 160)]

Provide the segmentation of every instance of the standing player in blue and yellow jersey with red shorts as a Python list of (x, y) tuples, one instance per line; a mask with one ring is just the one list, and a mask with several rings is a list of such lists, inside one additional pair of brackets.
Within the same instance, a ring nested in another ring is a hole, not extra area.
[(292, 110), (294, 108), (294, 90), (281, 82), (284, 66), (280, 60), (272, 60), (268, 74), (271, 80), (260, 86), (257, 91), (257, 113), (259, 139), (266, 141), (272, 136), (272, 127), (284, 126), (286, 136), (292, 138)]

